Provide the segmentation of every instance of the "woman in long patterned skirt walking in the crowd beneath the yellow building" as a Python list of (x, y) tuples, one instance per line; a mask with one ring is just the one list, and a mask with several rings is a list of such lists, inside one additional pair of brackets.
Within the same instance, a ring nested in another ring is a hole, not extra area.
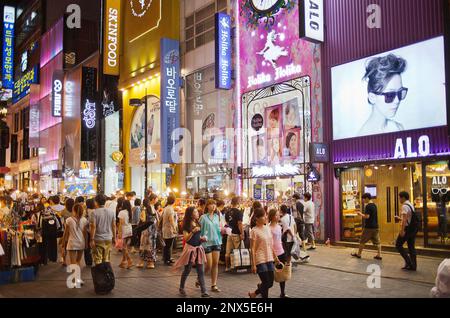
[(148, 227), (142, 231), (141, 244), (139, 248), (139, 256), (141, 262), (138, 268), (144, 268), (144, 263), (147, 263), (147, 269), (154, 269), (156, 263), (156, 240), (158, 238), (158, 222), (159, 216), (155, 210), (155, 204), (158, 202), (158, 197), (151, 194), (148, 199), (144, 199), (144, 209), (141, 212), (140, 224)]

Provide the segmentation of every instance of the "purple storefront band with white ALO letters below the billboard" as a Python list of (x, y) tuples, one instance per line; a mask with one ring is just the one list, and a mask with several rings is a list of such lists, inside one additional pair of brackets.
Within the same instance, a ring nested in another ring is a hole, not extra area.
[(446, 126), (375, 135), (333, 143), (335, 164), (450, 155)]

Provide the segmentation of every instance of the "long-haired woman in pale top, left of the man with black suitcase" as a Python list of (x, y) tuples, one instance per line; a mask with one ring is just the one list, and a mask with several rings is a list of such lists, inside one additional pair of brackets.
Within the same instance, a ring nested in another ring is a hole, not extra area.
[[(83, 252), (86, 248), (87, 230), (89, 222), (83, 216), (84, 207), (82, 204), (75, 204), (72, 209), (72, 216), (67, 218), (64, 231), (63, 242), (69, 254), (70, 264), (80, 266)], [(80, 284), (84, 284), (82, 280)]]

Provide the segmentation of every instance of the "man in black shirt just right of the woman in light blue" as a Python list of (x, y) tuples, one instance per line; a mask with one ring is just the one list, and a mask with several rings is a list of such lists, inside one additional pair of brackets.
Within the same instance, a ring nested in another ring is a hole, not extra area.
[(228, 271), (231, 265), (230, 254), (233, 249), (240, 247), (241, 242), (244, 240), (244, 227), (242, 220), (244, 218), (244, 212), (239, 209), (241, 200), (239, 197), (233, 197), (231, 199), (231, 209), (228, 213), (228, 225), (231, 228), (231, 235), (227, 238), (227, 248), (225, 252), (225, 271)]

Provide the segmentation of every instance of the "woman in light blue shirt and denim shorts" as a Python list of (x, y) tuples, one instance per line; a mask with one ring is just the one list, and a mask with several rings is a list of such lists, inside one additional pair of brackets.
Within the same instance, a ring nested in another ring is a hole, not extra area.
[(208, 200), (206, 202), (205, 214), (200, 218), (202, 227), (202, 236), (207, 241), (203, 243), (206, 258), (208, 260), (208, 270), (211, 271), (211, 291), (220, 292), (217, 287), (217, 278), (219, 276), (219, 258), (222, 246), (222, 234), (220, 232), (220, 216), (217, 213), (216, 201)]

